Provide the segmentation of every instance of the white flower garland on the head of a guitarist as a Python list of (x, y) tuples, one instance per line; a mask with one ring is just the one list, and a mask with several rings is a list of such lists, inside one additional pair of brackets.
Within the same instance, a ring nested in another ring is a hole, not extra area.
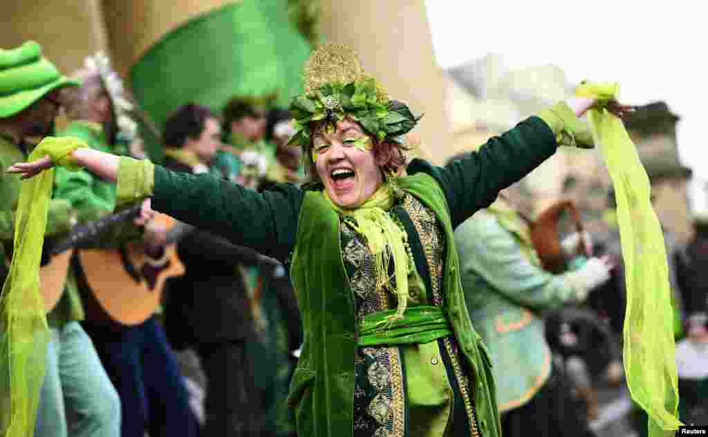
[(137, 136), (137, 122), (132, 117), (135, 106), (127, 98), (123, 81), (118, 73), (113, 70), (110, 59), (105, 53), (99, 51), (93, 56), (86, 57), (84, 66), (76, 71), (75, 77), (86, 79), (98, 76), (103, 88), (108, 93), (110, 104), (113, 109), (113, 117), (118, 125), (118, 131), (128, 141)]

